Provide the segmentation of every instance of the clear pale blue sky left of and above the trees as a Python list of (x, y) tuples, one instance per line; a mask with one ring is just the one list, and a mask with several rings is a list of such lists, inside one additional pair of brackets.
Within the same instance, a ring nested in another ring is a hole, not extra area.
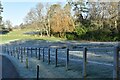
[(4, 0), (1, 1), (3, 6), (3, 21), (10, 20), (12, 25), (19, 25), (24, 22), (24, 18), (31, 8), (35, 8), (37, 3), (43, 4), (65, 2), (66, 0)]

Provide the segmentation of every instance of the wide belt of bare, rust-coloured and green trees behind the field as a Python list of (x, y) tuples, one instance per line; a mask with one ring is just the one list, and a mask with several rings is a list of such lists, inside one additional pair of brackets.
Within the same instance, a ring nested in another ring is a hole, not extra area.
[(64, 5), (38, 3), (19, 28), (69, 40), (120, 41), (118, 2), (67, 1)]

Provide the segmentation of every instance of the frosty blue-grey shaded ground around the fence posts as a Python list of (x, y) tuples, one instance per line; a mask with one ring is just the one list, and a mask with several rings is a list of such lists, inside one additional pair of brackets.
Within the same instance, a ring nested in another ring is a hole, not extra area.
[[(83, 51), (78, 51), (79, 48), (76, 46), (95, 46), (101, 44), (102, 46), (114, 46), (117, 43), (95, 43), (86, 42), (79, 43), (75, 41), (65, 42), (48, 42), (44, 40), (28, 40), (28, 41), (17, 41), (11, 42), (7, 46), (12, 47), (50, 47), (50, 46), (64, 46), (70, 48), (70, 63), (66, 71), (65, 60), (66, 51), (65, 49), (58, 50), (58, 67), (55, 67), (55, 51), (51, 49), (51, 63), (47, 63), (47, 48), (45, 49), (45, 61), (35, 57), (35, 51), (33, 51), (33, 57), (28, 57), (29, 68), (25, 68), (25, 56), (23, 63), (20, 62), (16, 57), (3, 54), (8, 57), (13, 64), (16, 66), (20, 76), (22, 78), (36, 78), (36, 66), (40, 65), (40, 78), (82, 78), (82, 59)], [(3, 45), (3, 47), (6, 45)], [(73, 49), (74, 48), (74, 49)], [(112, 78), (113, 71), (113, 51), (111, 52), (88, 52), (88, 64), (87, 64), (87, 77), (88, 78)], [(91, 62), (91, 63), (89, 63)], [(107, 66), (106, 66), (107, 65)]]

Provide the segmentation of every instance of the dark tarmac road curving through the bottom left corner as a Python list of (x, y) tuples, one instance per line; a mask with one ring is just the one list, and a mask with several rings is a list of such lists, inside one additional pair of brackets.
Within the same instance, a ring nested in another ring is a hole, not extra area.
[(0, 55), (0, 78), (19, 78), (15, 66), (5, 56)]

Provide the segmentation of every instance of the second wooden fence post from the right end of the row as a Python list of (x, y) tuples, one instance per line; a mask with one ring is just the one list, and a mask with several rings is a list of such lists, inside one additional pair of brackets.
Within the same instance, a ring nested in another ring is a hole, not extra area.
[(84, 48), (83, 51), (83, 77), (86, 77), (86, 64), (87, 64), (87, 48)]

